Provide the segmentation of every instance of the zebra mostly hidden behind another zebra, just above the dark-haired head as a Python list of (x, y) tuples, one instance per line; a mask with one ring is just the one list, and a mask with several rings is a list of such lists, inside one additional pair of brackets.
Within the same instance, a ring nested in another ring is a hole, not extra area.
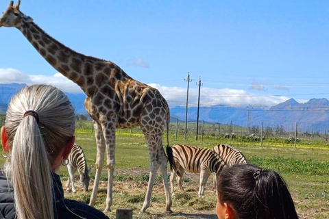
[[(215, 153), (217, 153), (221, 159), (223, 159), (224, 162), (228, 166), (233, 166), (234, 164), (239, 163), (247, 163), (247, 159), (245, 159), (245, 156), (241, 153), (241, 151), (234, 149), (232, 146), (228, 144), (217, 144), (212, 149)], [(212, 181), (212, 188), (216, 188), (216, 175), (214, 174), (214, 179)]]

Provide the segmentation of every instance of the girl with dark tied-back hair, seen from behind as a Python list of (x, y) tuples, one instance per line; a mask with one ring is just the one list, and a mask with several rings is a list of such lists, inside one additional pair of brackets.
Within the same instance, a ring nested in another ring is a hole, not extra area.
[(236, 164), (221, 172), (217, 191), (219, 219), (298, 218), (284, 179), (273, 170)]

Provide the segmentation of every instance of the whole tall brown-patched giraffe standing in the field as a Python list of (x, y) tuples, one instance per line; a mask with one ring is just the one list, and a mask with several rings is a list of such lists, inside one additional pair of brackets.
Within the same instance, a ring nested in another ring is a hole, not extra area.
[[(170, 151), (168, 128), (169, 106), (155, 88), (132, 79), (113, 62), (77, 53), (45, 33), (30, 16), (19, 10), (20, 1), (10, 5), (0, 18), (0, 27), (16, 27), (32, 44), (34, 49), (53, 68), (76, 83), (86, 94), (86, 111), (95, 121), (97, 143), (96, 175), (89, 205), (94, 205), (104, 156), (107, 157), (108, 193), (106, 208), (111, 211), (112, 186), (115, 166), (115, 129), (141, 127), (148, 145), (150, 168), (145, 201), (140, 213), (145, 213), (150, 205), (151, 192), (160, 168), (166, 197), (165, 213), (171, 213), (171, 196), (167, 177), (167, 162), (173, 165)], [(162, 133), (167, 127), (167, 155), (162, 146)]]

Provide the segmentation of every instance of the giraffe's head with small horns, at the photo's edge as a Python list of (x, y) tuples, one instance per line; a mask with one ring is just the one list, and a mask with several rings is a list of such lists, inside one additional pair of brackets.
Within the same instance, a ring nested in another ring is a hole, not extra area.
[(14, 6), (14, 1), (10, 1), (9, 7), (3, 12), (0, 18), (0, 27), (19, 27), (22, 23), (33, 21), (29, 16), (26, 16), (19, 10), (21, 1), (18, 1)]

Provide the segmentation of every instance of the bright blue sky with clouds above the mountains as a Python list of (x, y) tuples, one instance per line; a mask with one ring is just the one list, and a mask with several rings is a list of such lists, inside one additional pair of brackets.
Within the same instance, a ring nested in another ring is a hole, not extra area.
[[(199, 77), (202, 106), (329, 99), (329, 1), (22, 0), (20, 8), (67, 47), (158, 88), (171, 107), (186, 104), (188, 73), (189, 106)], [(1, 27), (0, 45), (0, 83), (82, 92), (18, 29)]]

